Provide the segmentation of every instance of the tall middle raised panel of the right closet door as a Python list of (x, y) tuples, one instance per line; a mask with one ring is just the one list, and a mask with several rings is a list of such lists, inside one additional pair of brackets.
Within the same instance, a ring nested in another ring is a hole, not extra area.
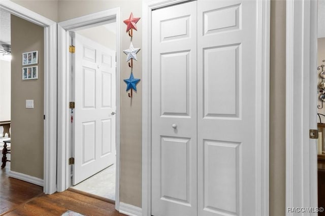
[(239, 44), (203, 50), (204, 117), (238, 117), (239, 54)]

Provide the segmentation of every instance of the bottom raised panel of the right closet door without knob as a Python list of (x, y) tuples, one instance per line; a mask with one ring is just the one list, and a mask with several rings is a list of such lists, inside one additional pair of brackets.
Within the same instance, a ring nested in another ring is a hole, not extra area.
[[(241, 143), (204, 140), (204, 206), (236, 212), (239, 203)], [(217, 194), (217, 196), (216, 196)]]

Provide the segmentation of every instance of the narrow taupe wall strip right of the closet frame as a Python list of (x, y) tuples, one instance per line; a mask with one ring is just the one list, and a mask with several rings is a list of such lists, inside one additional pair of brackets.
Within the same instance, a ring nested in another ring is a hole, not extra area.
[(285, 215), (285, 0), (271, 1), (270, 216)]

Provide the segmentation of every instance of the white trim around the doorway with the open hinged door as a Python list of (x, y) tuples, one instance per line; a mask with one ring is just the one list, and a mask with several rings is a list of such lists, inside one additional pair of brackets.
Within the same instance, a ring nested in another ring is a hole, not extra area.
[(57, 140), (57, 191), (70, 187), (69, 158), (69, 40), (71, 30), (96, 23), (116, 19), (116, 200), (115, 208), (119, 209), (119, 177), (120, 177), (120, 8), (74, 18), (58, 23), (58, 140)]

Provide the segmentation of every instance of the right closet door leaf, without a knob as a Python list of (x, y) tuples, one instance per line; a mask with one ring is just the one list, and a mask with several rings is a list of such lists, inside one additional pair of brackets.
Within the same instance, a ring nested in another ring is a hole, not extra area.
[(198, 215), (255, 215), (256, 2), (198, 1)]

